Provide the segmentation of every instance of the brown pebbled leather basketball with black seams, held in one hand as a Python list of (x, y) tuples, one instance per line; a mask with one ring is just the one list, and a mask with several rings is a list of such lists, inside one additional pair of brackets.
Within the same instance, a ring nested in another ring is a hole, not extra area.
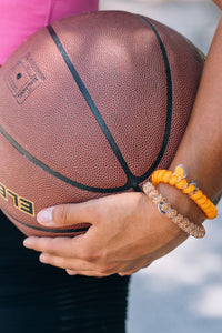
[(202, 68), (190, 41), (139, 14), (84, 13), (37, 31), (0, 69), (3, 213), (26, 235), (85, 232), (88, 223), (43, 228), (36, 215), (141, 191), (168, 168)]

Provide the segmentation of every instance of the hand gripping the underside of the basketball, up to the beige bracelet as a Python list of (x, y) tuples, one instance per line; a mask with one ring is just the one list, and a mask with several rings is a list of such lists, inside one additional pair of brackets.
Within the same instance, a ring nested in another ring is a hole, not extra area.
[[(42, 252), (41, 262), (68, 273), (105, 276), (132, 274), (172, 251), (186, 239), (142, 193), (122, 193), (79, 204), (59, 205), (44, 216), (47, 226), (88, 222), (75, 238), (29, 238), (27, 248)], [(43, 220), (41, 220), (43, 223)]]

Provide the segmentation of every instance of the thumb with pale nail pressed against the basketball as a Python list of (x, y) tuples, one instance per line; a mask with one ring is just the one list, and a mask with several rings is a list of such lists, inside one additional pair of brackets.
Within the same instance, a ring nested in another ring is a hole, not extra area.
[(47, 226), (68, 226), (77, 223), (91, 223), (93, 212), (94, 210), (90, 203), (60, 204), (40, 211), (37, 214), (37, 221)]

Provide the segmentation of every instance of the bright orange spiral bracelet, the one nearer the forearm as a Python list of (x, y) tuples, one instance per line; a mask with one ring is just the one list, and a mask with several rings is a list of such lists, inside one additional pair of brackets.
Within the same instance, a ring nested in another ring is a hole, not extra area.
[(211, 202), (201, 190), (196, 182), (186, 181), (186, 170), (183, 165), (178, 165), (174, 172), (169, 170), (155, 170), (152, 173), (152, 183), (157, 186), (159, 183), (170, 184), (188, 194), (198, 206), (204, 212), (206, 219), (215, 219), (218, 215), (216, 206)]

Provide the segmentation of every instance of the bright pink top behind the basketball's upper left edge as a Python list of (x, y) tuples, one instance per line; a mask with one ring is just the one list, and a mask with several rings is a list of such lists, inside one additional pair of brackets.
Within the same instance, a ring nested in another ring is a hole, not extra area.
[(0, 0), (0, 64), (34, 31), (50, 22), (98, 10), (99, 0)]

